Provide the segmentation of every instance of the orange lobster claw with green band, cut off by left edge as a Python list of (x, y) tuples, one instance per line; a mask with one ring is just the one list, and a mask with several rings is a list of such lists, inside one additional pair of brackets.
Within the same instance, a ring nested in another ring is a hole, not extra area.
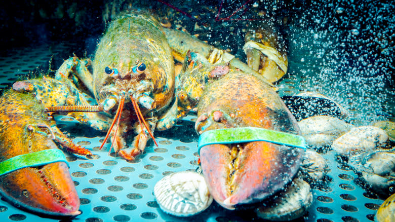
[(53, 140), (83, 155), (90, 152), (49, 126), (55, 122), (31, 94), (9, 90), (0, 98), (0, 194), (34, 213), (76, 216), (80, 199)]

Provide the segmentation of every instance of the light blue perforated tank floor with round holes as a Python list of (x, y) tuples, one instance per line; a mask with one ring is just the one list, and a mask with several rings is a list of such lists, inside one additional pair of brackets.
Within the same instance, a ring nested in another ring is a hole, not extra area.
[[(0, 87), (11, 86), (19, 76), (48, 62), (50, 56), (56, 55), (62, 47), (65, 46), (49, 49), (48, 45), (43, 45), (34, 49), (15, 49), (8, 57), (0, 57), (0, 66), (3, 69)], [(297, 91), (294, 86), (302, 85), (303, 83), (299, 82), (302, 79), (293, 76), (292, 79), (283, 80), (280, 93), (287, 89)], [(193, 129), (193, 118), (195, 117), (188, 116), (180, 125), (169, 131), (156, 131), (155, 137), (159, 147), (151, 142), (146, 148), (146, 153), (134, 162), (114, 157), (113, 153), (108, 155), (109, 144), (106, 149), (98, 151), (104, 135), (88, 138), (71, 131), (71, 136), (75, 136), (74, 142), (87, 147), (94, 154), (90, 159), (68, 157), (70, 173), (81, 198), (80, 210), (83, 212), (74, 218), (75, 221), (258, 220), (253, 215), (246, 217), (243, 212), (225, 210), (215, 203), (203, 213), (189, 218), (178, 218), (160, 210), (152, 194), (156, 181), (170, 172), (196, 168), (198, 135)], [(57, 116), (56, 119), (63, 129), (76, 123), (63, 116)], [(373, 221), (374, 214), (383, 200), (377, 199), (358, 186), (355, 183), (357, 175), (347, 166), (337, 163), (333, 152), (325, 154), (324, 157), (331, 168), (328, 174), (331, 178), (329, 188), (313, 190), (313, 204), (303, 219), (318, 222)], [(2, 221), (59, 220), (41, 218), (21, 211), (3, 199), (0, 200), (0, 218)]]

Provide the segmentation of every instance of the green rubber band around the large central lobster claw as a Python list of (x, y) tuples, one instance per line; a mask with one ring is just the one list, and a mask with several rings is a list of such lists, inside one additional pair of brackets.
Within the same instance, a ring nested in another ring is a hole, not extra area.
[(240, 127), (209, 130), (199, 137), (198, 153), (205, 145), (266, 141), (306, 150), (303, 136), (257, 127)]

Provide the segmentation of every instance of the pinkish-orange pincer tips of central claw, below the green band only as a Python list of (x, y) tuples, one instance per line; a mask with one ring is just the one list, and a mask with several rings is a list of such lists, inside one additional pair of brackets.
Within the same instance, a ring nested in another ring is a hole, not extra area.
[(265, 141), (211, 144), (200, 150), (203, 175), (223, 207), (263, 200), (297, 173), (304, 150)]

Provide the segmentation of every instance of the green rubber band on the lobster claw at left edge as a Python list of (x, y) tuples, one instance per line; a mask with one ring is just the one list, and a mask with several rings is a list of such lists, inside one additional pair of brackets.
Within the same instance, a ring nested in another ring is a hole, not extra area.
[(21, 168), (42, 166), (55, 162), (65, 162), (68, 166), (66, 156), (64, 156), (63, 152), (58, 149), (22, 154), (0, 162), (0, 176)]

